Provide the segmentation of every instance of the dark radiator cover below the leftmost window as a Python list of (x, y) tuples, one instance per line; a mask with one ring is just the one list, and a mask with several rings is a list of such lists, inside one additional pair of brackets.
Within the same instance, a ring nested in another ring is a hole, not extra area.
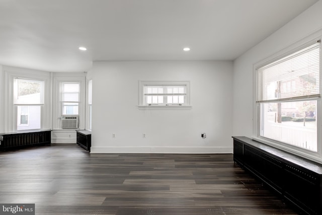
[(12, 150), (29, 146), (44, 146), (51, 144), (51, 130), (31, 130), (3, 133), (0, 150)]

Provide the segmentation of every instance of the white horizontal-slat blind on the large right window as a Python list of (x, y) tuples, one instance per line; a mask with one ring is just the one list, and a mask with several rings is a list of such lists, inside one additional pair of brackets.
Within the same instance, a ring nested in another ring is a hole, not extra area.
[(320, 97), (320, 41), (258, 68), (257, 102)]

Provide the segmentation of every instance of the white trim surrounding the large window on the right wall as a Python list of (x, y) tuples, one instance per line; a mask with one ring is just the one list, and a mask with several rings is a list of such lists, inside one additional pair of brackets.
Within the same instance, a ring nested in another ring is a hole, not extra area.
[[(253, 104), (254, 104), (254, 111), (253, 111), (253, 136), (252, 138), (254, 140), (263, 142), (264, 144), (270, 145), (272, 147), (275, 147), (277, 149), (289, 152), (291, 154), (306, 158), (308, 160), (321, 163), (322, 164), (322, 143), (321, 143), (321, 135), (322, 135), (322, 127), (321, 127), (321, 117), (322, 117), (322, 100), (321, 98), (316, 99), (317, 100), (317, 152), (312, 152), (306, 149), (301, 149), (296, 146), (292, 146), (289, 144), (285, 144), (280, 141), (272, 140), (269, 138), (262, 137), (260, 135), (260, 104), (257, 103), (257, 71), (259, 67), (262, 67), (264, 65), (267, 65), (271, 62), (274, 62), (278, 59), (281, 59), (287, 55), (290, 55), (298, 50), (303, 49), (304, 47), (311, 44), (313, 41), (320, 40), (322, 37), (322, 31), (316, 32), (315, 34), (312, 34), (308, 36), (305, 39), (302, 39), (301, 41), (298, 41), (279, 52), (265, 58), (264, 60), (261, 60), (258, 63), (255, 63), (253, 66), (253, 83), (256, 83), (253, 86)], [(322, 69), (322, 53), (320, 53), (320, 76), (321, 76), (321, 69)], [(321, 89), (320, 89), (321, 90)]]

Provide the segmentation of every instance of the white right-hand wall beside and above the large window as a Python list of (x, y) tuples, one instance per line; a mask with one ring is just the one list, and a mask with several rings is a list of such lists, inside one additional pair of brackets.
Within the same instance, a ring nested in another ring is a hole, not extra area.
[(233, 135), (253, 135), (254, 64), (290, 51), (320, 35), (322, 1), (280, 28), (274, 34), (234, 60), (233, 64)]

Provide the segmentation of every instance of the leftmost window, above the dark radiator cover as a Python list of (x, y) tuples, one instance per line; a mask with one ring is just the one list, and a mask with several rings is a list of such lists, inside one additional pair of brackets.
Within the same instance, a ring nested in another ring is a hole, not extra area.
[(40, 129), (44, 81), (14, 78), (14, 105), (17, 130)]

